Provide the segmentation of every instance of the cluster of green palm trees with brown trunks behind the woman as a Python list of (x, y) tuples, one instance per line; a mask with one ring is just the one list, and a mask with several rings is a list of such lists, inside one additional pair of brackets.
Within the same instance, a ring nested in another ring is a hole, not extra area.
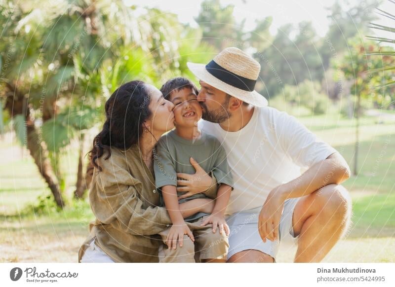
[(160, 85), (179, 69), (180, 58), (189, 58), (178, 53), (182, 27), (172, 14), (140, 14), (121, 0), (3, 0), (0, 25), (2, 107), (62, 208), (60, 155), (80, 142), (80, 197), (86, 132), (102, 123), (104, 103), (120, 84), (138, 78)]

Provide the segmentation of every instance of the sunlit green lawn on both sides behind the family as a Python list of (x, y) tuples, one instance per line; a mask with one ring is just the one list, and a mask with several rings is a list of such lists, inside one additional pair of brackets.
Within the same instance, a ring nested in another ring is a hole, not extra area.
[[(340, 115), (299, 119), (332, 144), (353, 167), (355, 122)], [(62, 157), (67, 194), (74, 190), (77, 167), (73, 147)], [(0, 140), (0, 261), (76, 262), (80, 243), (93, 219), (86, 201), (60, 213), (27, 212), (39, 195), (49, 195), (32, 159), (8, 137)], [(394, 262), (395, 258), (395, 122), (361, 120), (358, 176), (345, 186), (353, 198), (353, 226), (326, 256), (327, 262)], [(45, 203), (45, 201), (44, 201)], [(278, 262), (290, 262), (294, 247), (281, 248)]]

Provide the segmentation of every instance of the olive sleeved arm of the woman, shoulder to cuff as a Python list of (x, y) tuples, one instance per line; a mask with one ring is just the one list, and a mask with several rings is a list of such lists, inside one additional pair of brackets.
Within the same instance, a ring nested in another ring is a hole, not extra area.
[(89, 200), (100, 222), (133, 235), (158, 234), (171, 224), (165, 208), (143, 208), (143, 201), (138, 197), (144, 194), (143, 185), (130, 175), (126, 164), (122, 166), (124, 158), (117, 158), (113, 153), (108, 160), (99, 161), (103, 170), (95, 175)]

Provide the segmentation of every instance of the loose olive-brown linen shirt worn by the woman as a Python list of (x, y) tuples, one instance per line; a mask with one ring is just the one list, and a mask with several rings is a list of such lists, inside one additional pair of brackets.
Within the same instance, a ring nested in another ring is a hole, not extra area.
[[(96, 219), (89, 224), (78, 262), (92, 240), (115, 262), (158, 262), (162, 244), (158, 233), (170, 226), (171, 219), (165, 208), (158, 207), (154, 163), (147, 167), (138, 144), (126, 151), (112, 147), (111, 156), (106, 157), (107, 153), (97, 159), (102, 171), (96, 167), (93, 170), (89, 202)], [(217, 181), (212, 178), (205, 194), (214, 199)], [(195, 229), (207, 228), (187, 224)]]

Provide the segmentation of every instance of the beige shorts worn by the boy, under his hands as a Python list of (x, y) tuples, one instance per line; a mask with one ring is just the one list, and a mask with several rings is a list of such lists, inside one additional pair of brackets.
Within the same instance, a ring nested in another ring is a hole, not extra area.
[[(160, 232), (163, 245), (159, 247), (159, 262), (200, 262), (202, 259), (223, 259), (226, 260), (229, 249), (228, 236), (219, 230), (213, 233), (212, 224), (207, 224), (204, 228), (199, 225), (209, 215), (204, 215), (188, 224), (194, 234), (195, 242), (188, 235), (184, 235), (183, 246), (177, 243), (177, 248), (169, 250), (165, 244), (170, 227)], [(196, 225), (196, 229), (194, 226)]]

